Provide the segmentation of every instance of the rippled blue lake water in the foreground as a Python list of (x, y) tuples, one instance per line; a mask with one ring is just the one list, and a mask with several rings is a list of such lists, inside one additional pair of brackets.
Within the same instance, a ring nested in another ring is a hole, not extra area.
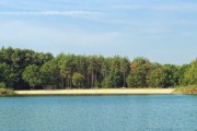
[(197, 131), (197, 96), (0, 97), (0, 131)]

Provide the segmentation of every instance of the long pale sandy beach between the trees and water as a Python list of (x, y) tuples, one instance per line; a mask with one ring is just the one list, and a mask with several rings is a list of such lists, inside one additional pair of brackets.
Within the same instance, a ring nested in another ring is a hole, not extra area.
[(42, 90), (15, 91), (18, 95), (135, 95), (172, 94), (173, 88), (106, 88), (106, 90)]

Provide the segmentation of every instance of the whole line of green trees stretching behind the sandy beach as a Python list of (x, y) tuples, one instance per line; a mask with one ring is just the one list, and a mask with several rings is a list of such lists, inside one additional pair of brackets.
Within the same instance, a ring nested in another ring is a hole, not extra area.
[(138, 57), (103, 57), (0, 49), (0, 84), (13, 90), (174, 87), (197, 84), (197, 59), (174, 66)]

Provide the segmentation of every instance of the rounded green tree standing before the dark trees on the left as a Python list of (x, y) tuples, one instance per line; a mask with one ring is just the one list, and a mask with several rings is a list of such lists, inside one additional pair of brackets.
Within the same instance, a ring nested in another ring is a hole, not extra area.
[(39, 72), (39, 67), (32, 64), (25, 68), (22, 78), (25, 82), (27, 82), (33, 88), (35, 86), (42, 84), (42, 79), (40, 79), (40, 72)]

